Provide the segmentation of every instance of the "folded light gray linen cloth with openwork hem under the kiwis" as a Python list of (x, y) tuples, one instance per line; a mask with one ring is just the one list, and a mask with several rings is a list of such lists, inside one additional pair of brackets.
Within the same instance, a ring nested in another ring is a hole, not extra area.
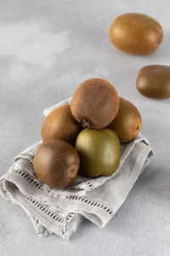
[[(48, 115), (70, 102), (71, 98), (44, 110), (44, 113)], [(51, 189), (37, 179), (33, 170), (33, 158), (41, 143), (18, 154), (14, 165), (0, 178), (0, 194), (26, 211), (39, 236), (54, 233), (69, 238), (83, 218), (104, 227), (122, 206), (153, 155), (150, 143), (139, 134), (132, 142), (121, 145), (120, 165), (110, 177), (78, 175), (70, 187)]]

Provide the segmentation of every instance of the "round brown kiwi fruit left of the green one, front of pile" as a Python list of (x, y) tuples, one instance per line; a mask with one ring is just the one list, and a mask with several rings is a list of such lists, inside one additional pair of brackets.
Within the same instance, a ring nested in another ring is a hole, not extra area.
[(80, 159), (77, 150), (71, 144), (51, 140), (39, 146), (33, 166), (42, 183), (54, 189), (64, 189), (77, 177)]

